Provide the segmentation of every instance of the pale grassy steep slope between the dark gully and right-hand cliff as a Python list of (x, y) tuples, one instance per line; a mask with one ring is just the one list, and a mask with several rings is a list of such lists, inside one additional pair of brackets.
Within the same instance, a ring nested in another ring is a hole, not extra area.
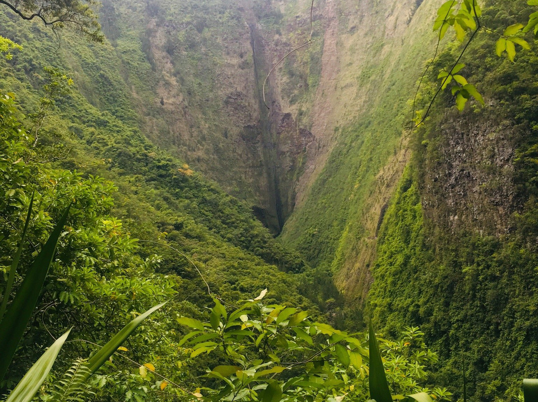
[(386, 2), (339, 10), (337, 90), (327, 99), (334, 146), (281, 239), (334, 272), (351, 300), (365, 295), (377, 223), (405, 166), (402, 131), (424, 48), (433, 40), (426, 24), (432, 6)]

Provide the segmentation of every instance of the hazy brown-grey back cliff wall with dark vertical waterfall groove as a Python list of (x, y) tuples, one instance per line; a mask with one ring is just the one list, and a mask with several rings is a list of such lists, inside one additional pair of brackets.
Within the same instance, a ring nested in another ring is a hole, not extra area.
[[(105, 2), (102, 13), (148, 137), (246, 199), (279, 233), (313, 142), (301, 102), (317, 85), (320, 10), (317, 41), (275, 71), (265, 102), (272, 66), (309, 36), (307, 2)], [(140, 76), (133, 52), (151, 63), (149, 76)]]

